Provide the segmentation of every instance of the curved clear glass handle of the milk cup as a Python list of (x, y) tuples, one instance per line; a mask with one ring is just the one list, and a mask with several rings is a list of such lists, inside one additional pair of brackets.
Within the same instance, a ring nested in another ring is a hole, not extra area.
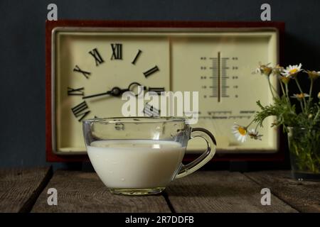
[(205, 128), (192, 128), (190, 139), (196, 137), (201, 137), (206, 140), (207, 150), (200, 157), (196, 158), (196, 160), (193, 160), (187, 165), (181, 164), (182, 167), (176, 175), (175, 179), (190, 175), (191, 173), (203, 167), (203, 165), (210, 161), (213, 155), (215, 155), (215, 146), (217, 145), (217, 143), (212, 133), (210, 133)]

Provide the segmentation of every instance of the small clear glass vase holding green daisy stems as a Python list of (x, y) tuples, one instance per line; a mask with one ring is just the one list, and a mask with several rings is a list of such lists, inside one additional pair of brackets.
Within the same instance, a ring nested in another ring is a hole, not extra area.
[(320, 181), (319, 128), (288, 127), (292, 177)]

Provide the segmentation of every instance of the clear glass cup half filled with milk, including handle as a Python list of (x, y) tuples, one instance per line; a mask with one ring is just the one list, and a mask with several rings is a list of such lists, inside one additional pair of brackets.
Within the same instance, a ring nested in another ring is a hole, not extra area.
[[(215, 154), (213, 135), (204, 128), (191, 128), (185, 118), (94, 118), (82, 126), (92, 166), (114, 194), (158, 194)], [(196, 137), (206, 141), (207, 149), (183, 165), (188, 140)]]

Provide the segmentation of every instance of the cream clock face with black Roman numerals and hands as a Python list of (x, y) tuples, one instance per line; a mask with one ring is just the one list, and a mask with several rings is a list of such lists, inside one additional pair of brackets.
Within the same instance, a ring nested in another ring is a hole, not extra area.
[[(60, 33), (55, 80), (56, 136), (61, 152), (84, 151), (82, 119), (122, 116), (122, 89), (169, 90), (165, 38)], [(131, 86), (129, 87), (129, 85)]]

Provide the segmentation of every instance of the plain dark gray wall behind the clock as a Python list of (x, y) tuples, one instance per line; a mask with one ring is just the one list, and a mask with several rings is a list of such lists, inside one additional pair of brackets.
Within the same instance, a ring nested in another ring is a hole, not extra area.
[(272, 21), (286, 23), (284, 65), (302, 62), (306, 69), (320, 70), (319, 0), (0, 0), (0, 167), (48, 165), (45, 21), (50, 3), (58, 5), (58, 19), (128, 21), (260, 21), (260, 6), (269, 3)]

